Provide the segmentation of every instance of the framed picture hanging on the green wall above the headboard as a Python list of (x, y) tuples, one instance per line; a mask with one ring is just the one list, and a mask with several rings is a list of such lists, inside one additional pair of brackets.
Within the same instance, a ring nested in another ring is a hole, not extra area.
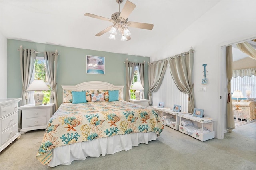
[(86, 55), (87, 74), (105, 74), (105, 57)]

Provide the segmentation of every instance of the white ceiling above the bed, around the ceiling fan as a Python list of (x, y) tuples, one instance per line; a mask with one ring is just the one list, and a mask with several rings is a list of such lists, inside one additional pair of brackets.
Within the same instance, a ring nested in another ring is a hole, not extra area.
[(154, 24), (151, 31), (129, 28), (130, 41), (96, 37), (112, 23), (84, 16), (111, 18), (119, 10), (116, 0), (0, 0), (0, 31), (8, 39), (152, 57), (220, 0), (130, 1), (136, 8), (128, 21)]

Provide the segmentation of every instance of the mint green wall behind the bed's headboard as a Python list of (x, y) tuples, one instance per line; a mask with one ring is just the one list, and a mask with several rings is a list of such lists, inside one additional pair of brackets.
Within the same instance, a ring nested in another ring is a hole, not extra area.
[[(7, 97), (20, 98), (22, 92), (22, 80), (20, 73), (20, 52), (17, 49), (22, 45), (26, 49), (34, 49), (39, 52), (58, 50), (57, 90), (58, 105), (62, 103), (61, 85), (76, 85), (88, 81), (104, 81), (114, 85), (126, 84), (125, 64), (126, 58), (132, 62), (145, 61), (145, 98), (148, 94), (148, 57), (94, 51), (48, 45), (28, 41), (7, 40)], [(86, 74), (86, 55), (105, 57), (105, 74)], [(42, 54), (38, 54), (42, 56)], [(126, 87), (124, 87), (125, 92)], [(125, 94), (124, 94), (125, 97)]]

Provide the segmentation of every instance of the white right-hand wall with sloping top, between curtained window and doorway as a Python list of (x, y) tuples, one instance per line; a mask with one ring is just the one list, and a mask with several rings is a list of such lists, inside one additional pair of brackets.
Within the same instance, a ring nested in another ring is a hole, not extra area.
[[(151, 57), (150, 61), (167, 58), (186, 52), (192, 46), (194, 52), (194, 82), (195, 107), (204, 109), (206, 117), (212, 117), (216, 137), (223, 138), (226, 132), (226, 64), (221, 46), (236, 43), (241, 40), (256, 37), (256, 1), (220, 1), (206, 12), (185, 31), (172, 39), (168, 45)], [(161, 56), (161, 57), (159, 57)], [(208, 74), (207, 85), (201, 85), (204, 67)], [(224, 80), (224, 81), (223, 81)], [(199, 92), (200, 87), (206, 87), (206, 92)], [(153, 94), (157, 96), (161, 92)], [(164, 101), (168, 102), (168, 101)], [(224, 108), (223, 108), (224, 107)]]

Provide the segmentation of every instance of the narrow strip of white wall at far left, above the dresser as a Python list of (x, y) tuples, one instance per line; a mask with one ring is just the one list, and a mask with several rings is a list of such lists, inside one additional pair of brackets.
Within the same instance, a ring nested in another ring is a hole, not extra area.
[(7, 98), (7, 39), (0, 31), (0, 99)]

